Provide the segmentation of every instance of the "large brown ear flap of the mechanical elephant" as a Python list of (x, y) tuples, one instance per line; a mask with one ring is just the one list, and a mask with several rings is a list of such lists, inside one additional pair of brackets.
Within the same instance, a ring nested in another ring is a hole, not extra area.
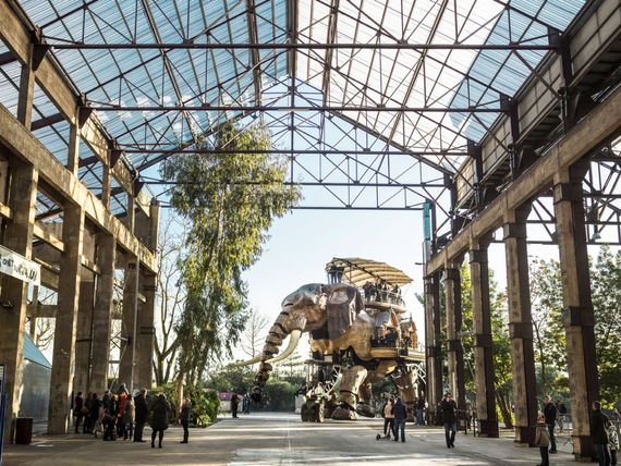
[(326, 304), (330, 340), (338, 339), (345, 333), (362, 309), (364, 309), (364, 302), (358, 289), (348, 284), (331, 286)]

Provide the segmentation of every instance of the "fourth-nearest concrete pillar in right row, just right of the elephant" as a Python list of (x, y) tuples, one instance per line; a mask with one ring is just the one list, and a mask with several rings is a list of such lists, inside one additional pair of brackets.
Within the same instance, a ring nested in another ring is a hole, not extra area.
[(465, 412), (464, 350), (460, 333), (462, 331), (462, 286), (459, 263), (448, 263), (445, 268), (445, 295), (447, 310), (447, 363), (449, 390), (452, 392), (458, 408)]

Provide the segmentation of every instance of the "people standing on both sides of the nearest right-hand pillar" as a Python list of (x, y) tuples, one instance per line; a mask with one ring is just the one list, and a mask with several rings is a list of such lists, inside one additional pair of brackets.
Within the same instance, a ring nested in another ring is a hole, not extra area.
[[(562, 421), (567, 416), (564, 403), (555, 404), (549, 395), (544, 396), (544, 410), (537, 418), (535, 445), (539, 447), (541, 463), (538, 466), (549, 466), (550, 453), (557, 453), (557, 439), (555, 425), (559, 422), (562, 432)], [(614, 424), (601, 412), (601, 403), (593, 402), (590, 417), (590, 433), (597, 459), (600, 466), (616, 466), (617, 451), (619, 450), (619, 432)]]

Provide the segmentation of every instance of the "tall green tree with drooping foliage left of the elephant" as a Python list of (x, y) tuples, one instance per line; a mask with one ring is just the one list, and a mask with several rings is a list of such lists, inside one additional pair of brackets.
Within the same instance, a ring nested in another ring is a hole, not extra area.
[[(248, 318), (242, 272), (260, 256), (275, 217), (300, 199), (296, 186), (285, 186), (285, 164), (267, 152), (263, 126), (241, 131), (220, 126), (209, 157), (179, 155), (163, 163), (163, 177), (173, 182), (171, 206), (190, 224), (182, 259), (187, 295), (175, 328), (180, 338), (179, 378), (200, 380), (207, 361), (231, 353)], [(218, 154), (218, 149), (233, 154)], [(235, 154), (235, 150), (240, 152)]]

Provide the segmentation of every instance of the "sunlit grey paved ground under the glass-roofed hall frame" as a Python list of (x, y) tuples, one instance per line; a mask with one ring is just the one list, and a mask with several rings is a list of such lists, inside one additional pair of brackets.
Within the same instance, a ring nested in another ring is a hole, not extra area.
[[(90, 436), (36, 437), (32, 445), (9, 445), (3, 466), (126, 465), (536, 465), (538, 449), (516, 447), (509, 438), (458, 434), (448, 450), (443, 431), (409, 425), (406, 442), (376, 441), (382, 419), (307, 424), (299, 416), (260, 413), (226, 418), (208, 429), (193, 429), (188, 444), (182, 430), (167, 431), (161, 450), (149, 443), (104, 442)], [(145, 432), (147, 433), (147, 432)], [(148, 434), (148, 433), (147, 433)], [(575, 465), (565, 452), (552, 465)]]

